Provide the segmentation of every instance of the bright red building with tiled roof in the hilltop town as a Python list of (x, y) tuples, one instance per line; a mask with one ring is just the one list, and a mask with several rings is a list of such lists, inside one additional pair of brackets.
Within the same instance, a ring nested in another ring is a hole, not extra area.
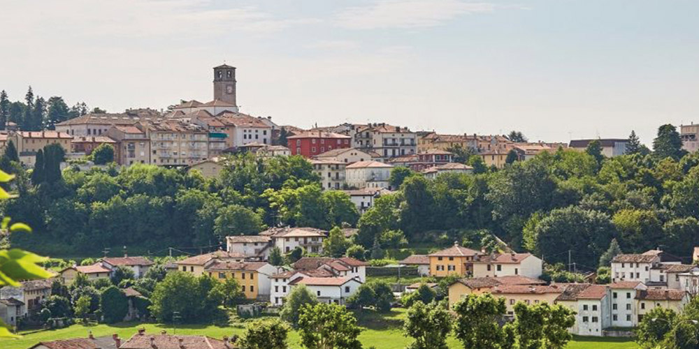
[(287, 137), (287, 140), (291, 155), (300, 154), (305, 158), (312, 158), (333, 149), (352, 147), (348, 135), (324, 131), (304, 131)]

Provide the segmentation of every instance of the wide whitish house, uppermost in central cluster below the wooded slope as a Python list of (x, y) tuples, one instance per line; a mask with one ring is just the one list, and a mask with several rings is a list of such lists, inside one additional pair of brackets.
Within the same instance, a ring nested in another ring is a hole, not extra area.
[(323, 241), (328, 232), (316, 228), (271, 228), (260, 232), (259, 235), (271, 237), (273, 246), (282, 253), (294, 251), (301, 247), (306, 252), (323, 253)]

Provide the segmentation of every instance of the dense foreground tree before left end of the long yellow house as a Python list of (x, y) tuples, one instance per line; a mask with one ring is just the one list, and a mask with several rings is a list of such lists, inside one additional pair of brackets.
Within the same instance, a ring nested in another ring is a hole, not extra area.
[(456, 339), (464, 349), (500, 348), (506, 336), (498, 321), (506, 311), (504, 298), (489, 293), (466, 295), (454, 305)]

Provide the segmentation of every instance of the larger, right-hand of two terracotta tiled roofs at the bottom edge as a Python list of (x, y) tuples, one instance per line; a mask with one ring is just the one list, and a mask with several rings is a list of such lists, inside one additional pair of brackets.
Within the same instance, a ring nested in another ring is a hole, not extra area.
[[(181, 342), (180, 342), (181, 341)], [(120, 349), (232, 349), (231, 344), (208, 336), (134, 334)]]

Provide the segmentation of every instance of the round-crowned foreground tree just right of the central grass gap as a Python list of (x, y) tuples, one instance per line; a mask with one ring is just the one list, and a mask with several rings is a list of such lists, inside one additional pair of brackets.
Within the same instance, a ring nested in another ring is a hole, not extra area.
[(452, 329), (452, 316), (441, 303), (425, 305), (415, 302), (408, 309), (408, 319), (403, 324), (406, 336), (415, 339), (410, 349), (447, 349), (447, 336)]

